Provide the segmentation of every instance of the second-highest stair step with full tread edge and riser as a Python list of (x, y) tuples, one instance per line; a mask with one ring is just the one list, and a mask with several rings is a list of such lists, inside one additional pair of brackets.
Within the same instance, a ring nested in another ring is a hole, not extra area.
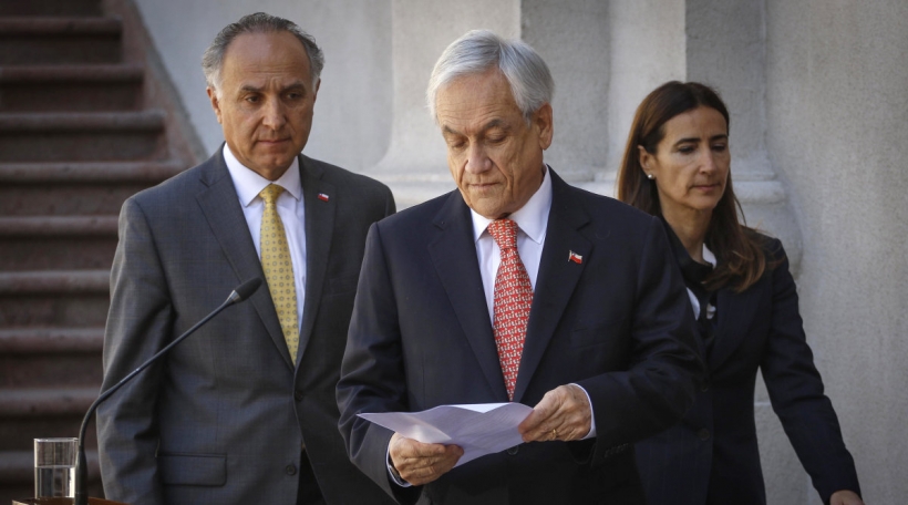
[(0, 68), (0, 112), (128, 111), (142, 104), (141, 65)]

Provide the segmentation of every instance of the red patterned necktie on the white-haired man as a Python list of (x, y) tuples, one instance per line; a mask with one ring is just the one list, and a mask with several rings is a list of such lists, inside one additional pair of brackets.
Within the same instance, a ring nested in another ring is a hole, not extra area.
[(524, 339), (533, 306), (533, 285), (517, 254), (517, 223), (496, 219), (488, 225), (488, 234), (502, 249), (502, 264), (495, 276), (495, 344), (505, 377), (507, 399), (514, 400), (517, 370), (524, 352)]

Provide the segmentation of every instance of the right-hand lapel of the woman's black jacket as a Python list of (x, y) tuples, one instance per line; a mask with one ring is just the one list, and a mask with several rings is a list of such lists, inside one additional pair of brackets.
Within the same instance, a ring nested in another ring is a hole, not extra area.
[(731, 289), (720, 289), (716, 295), (716, 322), (715, 342), (709, 357), (710, 370), (718, 370), (719, 367), (734, 353), (734, 350), (744, 341), (746, 337), (745, 328), (751, 328), (751, 322), (756, 316), (760, 295), (759, 285), (737, 295)]

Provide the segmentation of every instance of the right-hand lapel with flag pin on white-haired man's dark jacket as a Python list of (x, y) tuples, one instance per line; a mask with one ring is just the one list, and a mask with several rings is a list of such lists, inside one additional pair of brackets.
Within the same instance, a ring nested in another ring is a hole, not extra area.
[[(592, 251), (592, 244), (579, 231), (589, 221), (588, 214), (577, 205), (576, 195), (572, 195), (570, 186), (555, 175), (554, 171), (549, 171), (551, 209), (539, 272), (536, 276), (524, 353), (517, 372), (517, 385), (514, 389), (515, 402), (523, 398), (536, 368), (543, 360), (548, 342)], [(582, 258), (580, 264), (569, 259), (571, 251)]]

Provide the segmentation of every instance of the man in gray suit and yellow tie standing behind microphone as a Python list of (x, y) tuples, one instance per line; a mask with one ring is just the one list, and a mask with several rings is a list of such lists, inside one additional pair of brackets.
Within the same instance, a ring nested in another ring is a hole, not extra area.
[(290, 21), (244, 17), (206, 51), (226, 144), (123, 205), (104, 389), (217, 307), (266, 280), (99, 411), (104, 491), (143, 504), (368, 504), (348, 460), (338, 381), (382, 184), (301, 155), (323, 65)]

